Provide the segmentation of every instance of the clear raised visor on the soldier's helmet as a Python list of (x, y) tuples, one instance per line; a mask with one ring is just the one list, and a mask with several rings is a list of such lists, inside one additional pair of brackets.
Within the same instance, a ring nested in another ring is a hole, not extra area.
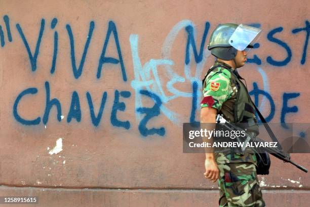
[(240, 24), (231, 34), (228, 43), (237, 50), (243, 51), (258, 40), (260, 31), (259, 28)]

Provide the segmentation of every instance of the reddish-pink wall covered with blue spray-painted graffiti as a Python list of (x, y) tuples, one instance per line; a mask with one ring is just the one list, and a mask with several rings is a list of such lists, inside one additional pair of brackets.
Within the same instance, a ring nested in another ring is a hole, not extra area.
[[(36, 195), (40, 206), (216, 206), (204, 155), (182, 153), (182, 123), (199, 121), (200, 80), (214, 61), (210, 33), (226, 22), (260, 27), (240, 73), (268, 121), (306, 123), (309, 6), (0, 1), (0, 196)], [(309, 167), (307, 154), (292, 158)], [(309, 174), (272, 162), (260, 177), (267, 206), (307, 206)]]

